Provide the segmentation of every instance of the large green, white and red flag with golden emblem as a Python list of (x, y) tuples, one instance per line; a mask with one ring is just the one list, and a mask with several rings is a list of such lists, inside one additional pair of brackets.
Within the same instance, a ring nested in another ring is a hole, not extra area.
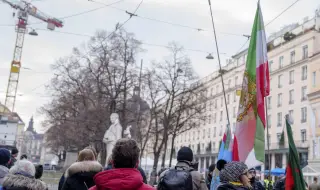
[(267, 42), (258, 3), (251, 33), (246, 68), (232, 143), (232, 159), (249, 168), (264, 163), (265, 97), (270, 91)]

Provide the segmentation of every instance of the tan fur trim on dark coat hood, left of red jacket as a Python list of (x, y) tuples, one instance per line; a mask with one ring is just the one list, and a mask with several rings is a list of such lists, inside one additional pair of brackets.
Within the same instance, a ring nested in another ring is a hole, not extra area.
[(82, 161), (73, 163), (66, 171), (65, 177), (70, 177), (77, 173), (92, 172), (98, 173), (103, 170), (102, 165), (97, 161)]

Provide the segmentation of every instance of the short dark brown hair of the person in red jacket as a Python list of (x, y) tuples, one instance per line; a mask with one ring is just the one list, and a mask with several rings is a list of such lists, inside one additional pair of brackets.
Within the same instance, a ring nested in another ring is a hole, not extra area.
[(112, 150), (114, 168), (135, 168), (139, 162), (140, 148), (133, 139), (119, 139)]

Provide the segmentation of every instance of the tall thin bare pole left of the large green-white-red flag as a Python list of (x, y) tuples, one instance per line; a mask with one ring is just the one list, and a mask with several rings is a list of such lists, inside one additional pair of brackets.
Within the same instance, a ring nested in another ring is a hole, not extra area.
[(220, 61), (220, 53), (219, 53), (219, 47), (218, 47), (218, 42), (217, 42), (216, 28), (215, 28), (214, 21), (213, 21), (211, 0), (208, 0), (208, 2), (209, 2), (209, 7), (210, 7), (210, 16), (211, 16), (212, 28), (213, 28), (214, 39), (215, 39), (216, 50), (217, 50), (217, 57), (218, 57), (219, 68), (220, 68), (219, 73), (220, 73), (220, 78), (221, 78), (221, 83), (222, 83), (222, 91), (223, 91), (223, 97), (224, 97), (224, 104), (226, 105), (228, 128), (230, 128), (230, 119), (229, 119), (229, 112), (228, 112), (228, 106), (227, 106), (226, 91), (225, 91), (225, 88), (224, 88), (223, 72), (222, 72), (221, 61)]

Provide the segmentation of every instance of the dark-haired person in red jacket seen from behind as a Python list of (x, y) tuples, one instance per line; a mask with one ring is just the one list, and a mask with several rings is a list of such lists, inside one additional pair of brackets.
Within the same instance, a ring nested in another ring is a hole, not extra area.
[(112, 149), (112, 169), (94, 176), (90, 190), (154, 190), (137, 170), (140, 148), (133, 139), (119, 139)]

